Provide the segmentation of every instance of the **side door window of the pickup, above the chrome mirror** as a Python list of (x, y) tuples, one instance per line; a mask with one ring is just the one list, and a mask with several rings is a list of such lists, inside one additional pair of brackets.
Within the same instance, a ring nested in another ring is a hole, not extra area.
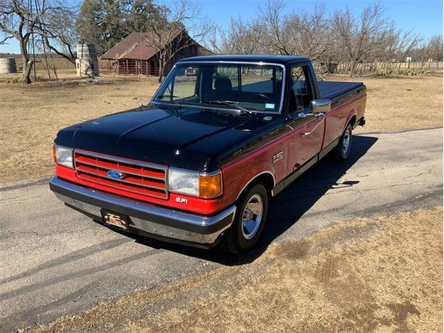
[(307, 80), (308, 77), (306, 66), (291, 67), (290, 112), (302, 112), (310, 106), (313, 93), (309, 80)]

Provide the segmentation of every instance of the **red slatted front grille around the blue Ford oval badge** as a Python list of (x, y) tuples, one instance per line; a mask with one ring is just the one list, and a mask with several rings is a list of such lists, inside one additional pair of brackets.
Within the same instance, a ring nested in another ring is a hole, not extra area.
[[(110, 187), (110, 191), (122, 189), (155, 198), (168, 198), (167, 167), (82, 149), (74, 150), (74, 162), (78, 178)], [(110, 178), (108, 171), (118, 171), (125, 176), (121, 180)]]

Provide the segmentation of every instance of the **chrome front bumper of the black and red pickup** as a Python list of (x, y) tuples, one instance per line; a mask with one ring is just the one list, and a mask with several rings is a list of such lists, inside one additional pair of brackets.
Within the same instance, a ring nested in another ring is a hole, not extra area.
[(102, 221), (101, 208), (105, 208), (129, 216), (130, 231), (142, 231), (148, 237), (162, 237), (167, 241), (178, 240), (210, 246), (224, 230), (230, 228), (236, 214), (234, 205), (212, 216), (180, 212), (114, 196), (58, 177), (51, 178), (49, 187), (69, 207), (96, 221)]

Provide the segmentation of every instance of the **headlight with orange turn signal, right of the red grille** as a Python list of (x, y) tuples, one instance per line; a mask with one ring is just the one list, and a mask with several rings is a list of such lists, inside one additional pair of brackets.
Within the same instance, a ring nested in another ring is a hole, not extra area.
[(202, 173), (170, 168), (168, 171), (168, 189), (178, 194), (214, 198), (222, 193), (221, 171)]

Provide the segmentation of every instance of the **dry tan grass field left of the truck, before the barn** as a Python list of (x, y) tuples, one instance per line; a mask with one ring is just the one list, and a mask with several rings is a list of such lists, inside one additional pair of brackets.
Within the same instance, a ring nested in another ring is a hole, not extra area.
[(0, 82), (0, 182), (53, 173), (51, 144), (60, 128), (136, 108), (157, 89), (156, 78), (102, 80), (100, 85), (68, 80), (29, 87)]

